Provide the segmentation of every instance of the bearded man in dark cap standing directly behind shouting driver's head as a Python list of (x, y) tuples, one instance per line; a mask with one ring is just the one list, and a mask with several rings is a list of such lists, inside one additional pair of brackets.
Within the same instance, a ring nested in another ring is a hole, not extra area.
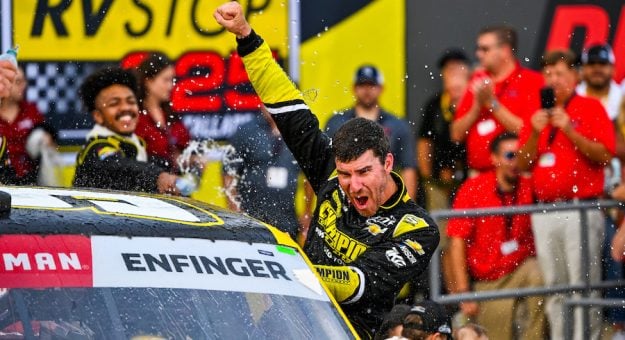
[(384, 90), (382, 73), (373, 65), (363, 65), (354, 76), (353, 108), (332, 116), (326, 124), (326, 133), (332, 137), (345, 122), (362, 117), (380, 123), (391, 143), (395, 168), (404, 179), (408, 194), (415, 198), (417, 193), (417, 161), (415, 140), (408, 123), (380, 107), (380, 95)]

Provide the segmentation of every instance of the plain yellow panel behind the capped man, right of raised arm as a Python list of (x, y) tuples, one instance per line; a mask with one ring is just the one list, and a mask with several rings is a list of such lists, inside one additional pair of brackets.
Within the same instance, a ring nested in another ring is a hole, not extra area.
[(354, 105), (354, 73), (363, 64), (384, 75), (381, 105), (405, 115), (405, 15), (404, 1), (372, 1), (302, 45), (300, 84), (322, 126), (334, 112)]

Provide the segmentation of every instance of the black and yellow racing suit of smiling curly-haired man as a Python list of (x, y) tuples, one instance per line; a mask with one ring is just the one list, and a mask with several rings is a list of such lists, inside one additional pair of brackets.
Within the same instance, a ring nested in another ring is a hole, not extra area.
[(137, 153), (137, 146), (121, 136), (89, 139), (76, 157), (74, 186), (158, 192), (158, 176), (165, 170), (137, 160)]

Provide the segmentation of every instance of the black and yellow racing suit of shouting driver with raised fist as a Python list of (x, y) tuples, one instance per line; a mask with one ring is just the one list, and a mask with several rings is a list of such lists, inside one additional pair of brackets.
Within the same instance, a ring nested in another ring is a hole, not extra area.
[(438, 228), (395, 173), (397, 192), (375, 215), (360, 215), (334, 175), (330, 138), (267, 44), (254, 32), (237, 42), (254, 89), (317, 194), (304, 251), (354, 328), (369, 338), (402, 286), (426, 270)]

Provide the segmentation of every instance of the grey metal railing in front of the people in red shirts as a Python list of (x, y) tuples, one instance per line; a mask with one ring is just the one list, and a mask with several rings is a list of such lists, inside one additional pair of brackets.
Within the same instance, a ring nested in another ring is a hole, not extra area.
[[(619, 208), (625, 209), (625, 205), (614, 200), (597, 200), (597, 201), (574, 201), (574, 202), (559, 202), (559, 203), (541, 203), (534, 205), (519, 205), (509, 206), (501, 208), (483, 208), (483, 209), (464, 209), (464, 210), (436, 210), (432, 211), (430, 215), (436, 221), (441, 219), (449, 219), (454, 217), (481, 217), (481, 216), (493, 216), (493, 215), (515, 215), (525, 213), (537, 213), (548, 211), (564, 211), (564, 210), (579, 210), (580, 211), (580, 224), (582, 233), (580, 250), (582, 253), (582, 270), (584, 273), (589, 272), (590, 255), (588, 249), (588, 240), (586, 237), (588, 221), (586, 211), (590, 209), (607, 209), (607, 208)], [(524, 288), (524, 289), (502, 289), (480, 292), (467, 292), (461, 294), (442, 294), (441, 287), (441, 249), (437, 249), (436, 253), (432, 256), (432, 262), (430, 263), (430, 296), (432, 300), (435, 300), (442, 304), (454, 304), (462, 301), (482, 301), (482, 300), (496, 300), (504, 298), (520, 298), (532, 295), (550, 295), (555, 293), (581, 293), (582, 299), (569, 299), (565, 301), (565, 315), (564, 315), (564, 333), (567, 334), (567, 339), (570, 339), (572, 335), (571, 321), (572, 309), (575, 306), (584, 308), (583, 313), (583, 325), (585, 338), (590, 338), (590, 329), (588, 327), (588, 309), (590, 307), (624, 307), (624, 300), (606, 300), (606, 299), (591, 299), (590, 292), (593, 290), (605, 290), (608, 288), (625, 287), (625, 280), (611, 280), (601, 281), (599, 283), (592, 284), (590, 282), (590, 276), (584, 276), (584, 282), (577, 285), (557, 285), (557, 286), (545, 286), (538, 288)], [(568, 327), (568, 328), (567, 328)]]

